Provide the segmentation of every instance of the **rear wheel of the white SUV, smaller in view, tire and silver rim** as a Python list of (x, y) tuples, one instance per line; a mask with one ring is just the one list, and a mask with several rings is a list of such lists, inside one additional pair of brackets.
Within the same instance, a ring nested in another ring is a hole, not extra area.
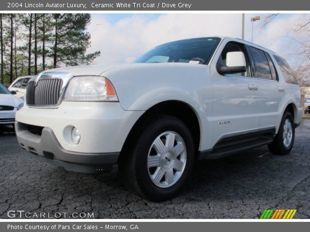
[(288, 111), (284, 112), (275, 140), (268, 145), (273, 154), (289, 154), (294, 145), (295, 127), (294, 118)]

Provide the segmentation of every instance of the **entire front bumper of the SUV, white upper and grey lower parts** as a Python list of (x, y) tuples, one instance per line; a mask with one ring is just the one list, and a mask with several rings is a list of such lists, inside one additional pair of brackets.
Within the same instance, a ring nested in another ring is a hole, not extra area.
[[(143, 113), (125, 111), (119, 102), (62, 102), (57, 109), (24, 106), (16, 114), (16, 137), (35, 158), (66, 170), (109, 171)], [(32, 126), (41, 131), (32, 131)], [(73, 127), (80, 132), (78, 145), (71, 139)]]

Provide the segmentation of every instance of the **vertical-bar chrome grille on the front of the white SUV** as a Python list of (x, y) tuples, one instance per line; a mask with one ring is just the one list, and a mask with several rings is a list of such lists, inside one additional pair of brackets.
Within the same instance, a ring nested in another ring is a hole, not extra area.
[(26, 89), (26, 104), (29, 106), (57, 105), (62, 89), (62, 79), (41, 79), (31, 81)]

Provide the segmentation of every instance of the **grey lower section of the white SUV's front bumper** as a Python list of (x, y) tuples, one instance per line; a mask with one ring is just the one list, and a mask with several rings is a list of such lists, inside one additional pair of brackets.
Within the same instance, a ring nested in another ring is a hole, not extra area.
[(67, 151), (59, 144), (50, 128), (44, 128), (41, 136), (28, 131), (27, 125), (23, 123), (16, 122), (15, 128), (19, 145), (33, 154), (34, 158), (61, 166), (68, 171), (79, 173), (109, 172), (120, 154), (119, 152), (81, 153)]

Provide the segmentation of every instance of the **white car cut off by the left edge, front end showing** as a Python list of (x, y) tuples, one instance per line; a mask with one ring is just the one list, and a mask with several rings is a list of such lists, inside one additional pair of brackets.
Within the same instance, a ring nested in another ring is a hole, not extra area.
[(0, 84), (0, 124), (15, 123), (16, 111), (24, 106), (24, 101), (14, 96)]

